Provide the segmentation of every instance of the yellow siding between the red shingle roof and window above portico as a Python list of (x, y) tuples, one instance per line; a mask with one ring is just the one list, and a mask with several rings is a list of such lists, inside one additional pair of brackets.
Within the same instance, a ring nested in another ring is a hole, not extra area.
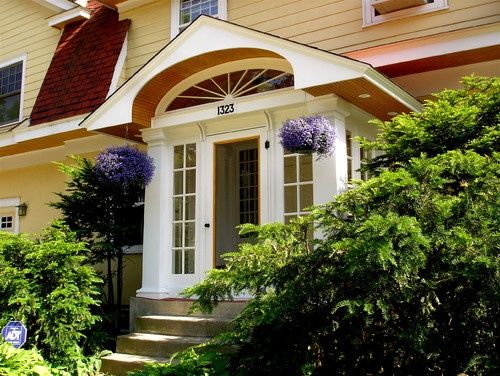
[(160, 0), (120, 14), (130, 19), (127, 78), (132, 76), (170, 40), (170, 2)]

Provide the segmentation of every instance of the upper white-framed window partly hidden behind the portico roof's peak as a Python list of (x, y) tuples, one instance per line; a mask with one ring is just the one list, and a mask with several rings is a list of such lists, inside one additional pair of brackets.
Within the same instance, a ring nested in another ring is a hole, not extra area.
[(173, 0), (172, 38), (202, 14), (227, 19), (226, 9), (227, 0)]

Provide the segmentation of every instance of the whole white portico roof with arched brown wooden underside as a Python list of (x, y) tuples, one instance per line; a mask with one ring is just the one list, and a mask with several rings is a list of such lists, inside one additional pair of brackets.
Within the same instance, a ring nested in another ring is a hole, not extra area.
[[(162, 98), (191, 75), (255, 58), (282, 59), (294, 89), (337, 95), (374, 117), (418, 111), (420, 102), (366, 63), (227, 21), (201, 16), (160, 50), (82, 123), (89, 131), (137, 137), (151, 126)], [(126, 130), (125, 130), (126, 129)]]

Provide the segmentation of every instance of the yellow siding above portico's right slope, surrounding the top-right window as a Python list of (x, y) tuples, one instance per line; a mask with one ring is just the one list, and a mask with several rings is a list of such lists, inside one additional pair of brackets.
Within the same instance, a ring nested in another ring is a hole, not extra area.
[(332, 52), (500, 22), (498, 0), (449, 0), (449, 8), (363, 28), (361, 0), (228, 0), (231, 22)]

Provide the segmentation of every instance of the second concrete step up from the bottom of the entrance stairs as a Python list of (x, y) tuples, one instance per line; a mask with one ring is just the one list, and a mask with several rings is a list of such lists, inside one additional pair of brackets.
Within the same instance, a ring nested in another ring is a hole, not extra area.
[(116, 352), (122, 354), (169, 357), (185, 348), (207, 342), (208, 337), (182, 337), (164, 334), (132, 333), (119, 336)]

